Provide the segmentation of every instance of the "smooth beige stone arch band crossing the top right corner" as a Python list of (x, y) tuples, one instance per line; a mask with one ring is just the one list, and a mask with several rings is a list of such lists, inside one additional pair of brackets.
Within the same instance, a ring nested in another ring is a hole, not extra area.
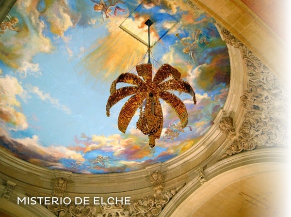
[[(240, 0), (192, 0), (264, 62), (282, 82), (288, 78), (289, 46)], [(288, 21), (286, 21), (288, 22)]]

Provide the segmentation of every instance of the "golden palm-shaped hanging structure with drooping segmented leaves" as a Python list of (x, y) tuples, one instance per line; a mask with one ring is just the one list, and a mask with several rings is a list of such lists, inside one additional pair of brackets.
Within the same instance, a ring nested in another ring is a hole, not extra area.
[[(192, 95), (196, 104), (195, 93), (191, 85), (180, 79), (181, 74), (169, 64), (163, 64), (152, 78), (152, 64), (146, 63), (136, 66), (137, 74), (123, 73), (113, 81), (108, 98), (106, 111), (121, 99), (133, 95), (125, 103), (118, 117), (118, 129), (125, 133), (130, 120), (136, 110), (140, 108), (140, 117), (136, 127), (143, 134), (148, 135), (149, 146), (155, 146), (155, 140), (160, 139), (163, 125), (162, 106), (159, 98), (168, 103), (178, 115), (181, 127), (188, 123), (188, 114), (184, 103), (173, 93), (168, 91), (184, 92)], [(140, 77), (142, 78), (140, 78)], [(172, 77), (172, 79), (167, 79)], [(133, 86), (121, 87), (116, 90), (117, 83), (128, 83)], [(145, 103), (144, 103), (145, 102)]]

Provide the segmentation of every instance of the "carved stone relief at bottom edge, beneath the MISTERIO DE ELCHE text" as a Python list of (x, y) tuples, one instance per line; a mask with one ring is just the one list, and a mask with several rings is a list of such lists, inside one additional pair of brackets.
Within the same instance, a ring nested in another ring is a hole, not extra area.
[(184, 186), (172, 188), (159, 194), (143, 197), (131, 202), (130, 205), (46, 205), (57, 217), (153, 217), (159, 216), (165, 205)]

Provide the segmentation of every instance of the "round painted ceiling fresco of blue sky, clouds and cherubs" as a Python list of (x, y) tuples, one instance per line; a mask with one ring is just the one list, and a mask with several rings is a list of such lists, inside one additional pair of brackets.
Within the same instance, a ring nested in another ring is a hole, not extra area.
[[(148, 18), (154, 73), (175, 67), (197, 99), (173, 92), (187, 108), (185, 128), (160, 100), (154, 148), (136, 129), (139, 110), (126, 133), (118, 130), (129, 97), (106, 115), (113, 80), (137, 75), (135, 66), (148, 61)], [(185, 0), (17, 0), (0, 25), (0, 147), (32, 164), (76, 173), (142, 169), (194, 146), (226, 101), (226, 44)]]

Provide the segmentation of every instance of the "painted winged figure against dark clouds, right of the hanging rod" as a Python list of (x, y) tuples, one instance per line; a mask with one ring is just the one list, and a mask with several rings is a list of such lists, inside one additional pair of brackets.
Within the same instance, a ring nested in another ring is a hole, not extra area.
[[(194, 33), (195, 32), (195, 33)], [(183, 43), (185, 48), (183, 49), (183, 53), (189, 53), (190, 59), (194, 61), (195, 64), (197, 64), (197, 59), (195, 53), (197, 52), (196, 49), (198, 47), (205, 48), (210, 44), (210, 40), (206, 35), (202, 35), (201, 30), (195, 30), (192, 32), (192, 38), (194, 39), (193, 43), (186, 43), (184, 42), (180, 36), (179, 33), (175, 34), (176, 37), (180, 39), (180, 41)]]

